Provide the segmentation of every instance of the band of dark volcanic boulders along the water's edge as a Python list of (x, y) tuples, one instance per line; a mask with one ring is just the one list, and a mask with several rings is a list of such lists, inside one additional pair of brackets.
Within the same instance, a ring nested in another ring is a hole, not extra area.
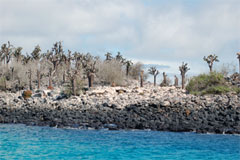
[[(118, 108), (115, 104), (96, 106), (30, 98), (0, 98), (0, 123), (72, 127), (151, 129), (175, 132), (240, 134), (240, 96), (186, 97), (138, 102)], [(72, 98), (72, 101), (78, 99)], [(70, 105), (71, 104), (71, 105)]]

